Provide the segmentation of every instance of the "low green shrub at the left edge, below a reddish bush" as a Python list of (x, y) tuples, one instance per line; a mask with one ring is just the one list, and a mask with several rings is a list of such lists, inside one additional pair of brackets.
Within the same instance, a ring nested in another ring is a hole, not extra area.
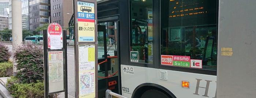
[(12, 63), (0, 63), (0, 77), (12, 76)]

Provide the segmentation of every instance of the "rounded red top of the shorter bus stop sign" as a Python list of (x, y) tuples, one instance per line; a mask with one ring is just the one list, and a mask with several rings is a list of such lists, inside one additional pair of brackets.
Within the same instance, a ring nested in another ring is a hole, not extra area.
[(48, 34), (50, 34), (50, 35), (60, 35), (60, 34), (62, 34), (62, 27), (58, 23), (51, 23), (48, 26)]

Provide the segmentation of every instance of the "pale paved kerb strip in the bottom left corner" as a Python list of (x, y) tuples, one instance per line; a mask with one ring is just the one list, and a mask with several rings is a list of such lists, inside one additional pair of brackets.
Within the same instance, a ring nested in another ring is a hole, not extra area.
[[(2, 77), (2, 78), (0, 78), (0, 94), (1, 94), (1, 96), (3, 97), (3, 98), (13, 98), (13, 97), (11, 97), (11, 95), (10, 95), (10, 93), (9, 93), (9, 91), (7, 91), (7, 89), (4, 87), (4, 85), (6, 84), (6, 82), (7, 82), (7, 78), (8, 77)], [(1, 96), (0, 96), (0, 98), (1, 98)]]

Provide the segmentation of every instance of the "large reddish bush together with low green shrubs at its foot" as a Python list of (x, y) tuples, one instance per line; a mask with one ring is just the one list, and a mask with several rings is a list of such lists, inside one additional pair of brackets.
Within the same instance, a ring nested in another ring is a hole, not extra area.
[[(6, 88), (15, 98), (44, 98), (43, 49), (33, 44), (18, 46), (14, 53), (16, 76), (7, 79)], [(57, 98), (59, 93), (48, 95)]]

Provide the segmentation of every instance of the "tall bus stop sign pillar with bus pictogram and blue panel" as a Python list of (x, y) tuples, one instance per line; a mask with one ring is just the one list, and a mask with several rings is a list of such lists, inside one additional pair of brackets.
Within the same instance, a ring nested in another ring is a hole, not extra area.
[(97, 1), (74, 0), (75, 98), (98, 98)]

